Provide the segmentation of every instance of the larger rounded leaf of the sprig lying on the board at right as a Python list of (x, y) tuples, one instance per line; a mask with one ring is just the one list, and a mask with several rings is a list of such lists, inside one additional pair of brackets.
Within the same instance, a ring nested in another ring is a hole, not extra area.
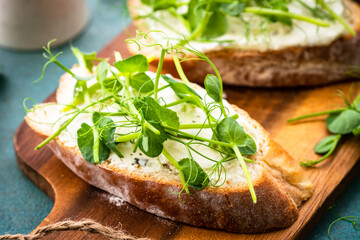
[(348, 134), (360, 125), (360, 113), (347, 109), (338, 115), (326, 118), (326, 125), (330, 132), (335, 134)]

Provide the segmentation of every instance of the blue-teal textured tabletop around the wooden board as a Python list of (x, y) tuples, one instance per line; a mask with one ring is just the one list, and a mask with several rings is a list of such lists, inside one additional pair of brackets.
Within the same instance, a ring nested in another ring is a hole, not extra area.
[[(122, 13), (120, 0), (89, 0), (92, 19), (85, 31), (72, 41), (83, 51), (99, 51), (128, 24)], [(63, 51), (60, 60), (72, 66), (76, 60), (69, 45), (56, 49)], [(43, 101), (58, 84), (62, 71), (50, 66), (46, 78), (39, 84), (32, 81), (40, 75), (46, 60), (41, 51), (17, 52), (0, 49), (0, 235), (28, 233), (51, 211), (52, 201), (30, 182), (18, 169), (12, 139), (23, 120), (22, 100), (32, 97)], [(349, 185), (335, 204), (341, 216), (360, 216), (360, 175)], [(337, 216), (329, 211), (314, 227), (308, 239), (327, 239), (327, 228)], [(338, 222), (332, 229), (333, 239), (360, 239), (360, 233), (350, 223)]]

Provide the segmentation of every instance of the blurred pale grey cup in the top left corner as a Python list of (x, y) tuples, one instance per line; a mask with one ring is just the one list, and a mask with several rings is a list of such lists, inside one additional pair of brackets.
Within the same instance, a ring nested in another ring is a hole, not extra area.
[(0, 46), (40, 49), (78, 35), (89, 19), (86, 0), (0, 0)]

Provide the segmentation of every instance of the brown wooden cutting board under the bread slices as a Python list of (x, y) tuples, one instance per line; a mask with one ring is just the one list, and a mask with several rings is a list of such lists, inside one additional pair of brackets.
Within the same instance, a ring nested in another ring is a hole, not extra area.
[[(130, 32), (133, 28), (130, 27)], [(101, 57), (110, 57), (114, 50), (124, 57), (124, 39), (127, 31), (117, 36), (101, 52)], [(191, 76), (188, 76), (191, 79)], [(287, 124), (288, 118), (306, 113), (327, 110), (342, 104), (336, 90), (348, 92), (351, 83), (333, 84), (317, 88), (297, 89), (253, 89), (225, 86), (230, 103), (246, 110), (267, 129), (295, 159), (316, 159), (314, 145), (327, 136), (324, 117)], [(52, 94), (48, 101), (53, 101)], [(106, 226), (122, 227), (137, 237), (152, 239), (302, 239), (334, 203), (353, 176), (359, 173), (360, 139), (347, 137), (340, 148), (321, 165), (306, 169), (305, 174), (314, 183), (312, 198), (300, 207), (298, 220), (289, 228), (266, 234), (242, 235), (208, 230), (173, 222), (144, 212), (121, 199), (90, 186), (44, 147), (33, 150), (41, 139), (22, 123), (14, 137), (17, 161), (23, 173), (54, 201), (50, 214), (39, 225), (58, 221), (91, 218)], [(47, 239), (91, 239), (97, 238), (83, 232), (53, 233)]]

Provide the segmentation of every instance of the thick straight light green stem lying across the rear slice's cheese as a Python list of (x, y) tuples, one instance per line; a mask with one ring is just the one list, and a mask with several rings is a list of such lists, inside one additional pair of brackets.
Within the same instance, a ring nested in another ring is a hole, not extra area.
[(304, 15), (299, 15), (291, 12), (284, 12), (281, 10), (276, 9), (269, 9), (269, 8), (261, 8), (261, 7), (246, 7), (244, 9), (244, 12), (246, 13), (254, 13), (259, 15), (269, 15), (269, 16), (283, 16), (283, 17), (289, 17), (292, 19), (296, 19), (303, 22), (309, 22), (321, 27), (330, 27), (330, 24), (326, 21), (313, 18), (313, 17), (307, 17)]

